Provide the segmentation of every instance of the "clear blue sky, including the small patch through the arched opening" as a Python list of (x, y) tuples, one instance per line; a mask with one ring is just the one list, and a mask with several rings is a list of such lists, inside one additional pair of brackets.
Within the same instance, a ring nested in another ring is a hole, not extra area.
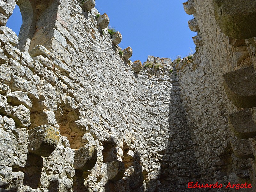
[[(195, 51), (192, 37), (196, 32), (188, 28), (187, 15), (180, 0), (96, 0), (100, 14), (107, 13), (110, 26), (119, 31), (123, 40), (121, 48), (133, 49), (131, 60), (147, 60), (148, 55), (168, 57), (188, 56)], [(16, 7), (7, 26), (19, 33), (22, 23)]]

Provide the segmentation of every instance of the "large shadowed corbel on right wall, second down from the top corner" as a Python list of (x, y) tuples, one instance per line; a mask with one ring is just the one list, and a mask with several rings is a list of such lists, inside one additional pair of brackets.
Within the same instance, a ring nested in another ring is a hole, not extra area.
[(224, 89), (228, 99), (240, 108), (256, 106), (256, 77), (253, 66), (223, 75)]

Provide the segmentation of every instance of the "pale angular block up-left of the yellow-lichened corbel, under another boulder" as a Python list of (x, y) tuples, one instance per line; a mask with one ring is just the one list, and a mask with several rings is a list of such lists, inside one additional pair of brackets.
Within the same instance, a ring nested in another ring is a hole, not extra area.
[(30, 126), (30, 111), (24, 106), (15, 106), (11, 110), (10, 117), (15, 121), (15, 124), (20, 127)]

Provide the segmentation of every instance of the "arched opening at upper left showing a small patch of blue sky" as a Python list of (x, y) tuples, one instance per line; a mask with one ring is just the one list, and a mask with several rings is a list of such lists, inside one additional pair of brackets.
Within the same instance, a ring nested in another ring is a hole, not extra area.
[(12, 29), (17, 36), (19, 35), (20, 32), (20, 27), (22, 25), (22, 16), (20, 12), (20, 8), (18, 5), (16, 5), (15, 9), (13, 10), (12, 15), (7, 21), (6, 26)]

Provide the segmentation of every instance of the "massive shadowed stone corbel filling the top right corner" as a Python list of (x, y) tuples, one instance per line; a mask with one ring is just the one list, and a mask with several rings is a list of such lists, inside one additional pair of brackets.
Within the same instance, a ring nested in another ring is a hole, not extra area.
[(256, 1), (213, 0), (215, 20), (221, 31), (235, 39), (249, 39), (256, 36)]

